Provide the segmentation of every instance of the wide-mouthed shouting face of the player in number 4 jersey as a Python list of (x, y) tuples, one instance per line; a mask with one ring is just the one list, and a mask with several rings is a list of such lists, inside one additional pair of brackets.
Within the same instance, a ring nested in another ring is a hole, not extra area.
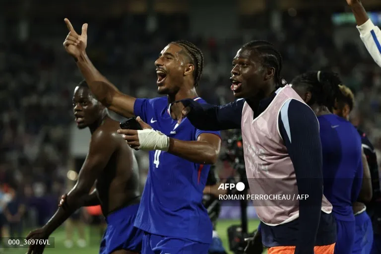
[(159, 94), (176, 93), (183, 84), (190, 64), (181, 51), (182, 48), (179, 45), (168, 44), (155, 61)]

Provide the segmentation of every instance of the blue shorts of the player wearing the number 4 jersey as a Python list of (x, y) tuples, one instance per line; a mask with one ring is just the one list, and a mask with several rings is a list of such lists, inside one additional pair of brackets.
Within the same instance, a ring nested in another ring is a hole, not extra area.
[(208, 254), (210, 244), (144, 232), (141, 254)]

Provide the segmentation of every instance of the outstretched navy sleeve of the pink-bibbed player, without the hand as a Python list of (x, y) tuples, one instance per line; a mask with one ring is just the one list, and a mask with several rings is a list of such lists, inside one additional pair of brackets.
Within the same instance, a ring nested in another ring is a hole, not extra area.
[(190, 107), (187, 118), (191, 124), (202, 130), (240, 129), (242, 109), (245, 100), (236, 100), (232, 103), (216, 106), (201, 104), (191, 99), (181, 101), (184, 107)]

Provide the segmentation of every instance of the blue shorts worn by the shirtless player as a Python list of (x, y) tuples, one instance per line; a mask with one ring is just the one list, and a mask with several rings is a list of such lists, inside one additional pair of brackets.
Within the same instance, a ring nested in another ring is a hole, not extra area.
[(107, 228), (99, 254), (110, 254), (117, 250), (141, 251), (143, 231), (133, 226), (139, 204), (129, 205), (106, 217)]

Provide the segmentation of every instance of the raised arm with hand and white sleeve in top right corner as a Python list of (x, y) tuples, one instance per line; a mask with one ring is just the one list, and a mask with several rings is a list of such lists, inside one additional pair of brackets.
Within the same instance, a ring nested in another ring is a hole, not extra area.
[(380, 28), (373, 24), (360, 0), (347, 0), (347, 3), (355, 15), (357, 29), (360, 32), (361, 40), (363, 41), (369, 54), (371, 54), (375, 62), (381, 67)]

